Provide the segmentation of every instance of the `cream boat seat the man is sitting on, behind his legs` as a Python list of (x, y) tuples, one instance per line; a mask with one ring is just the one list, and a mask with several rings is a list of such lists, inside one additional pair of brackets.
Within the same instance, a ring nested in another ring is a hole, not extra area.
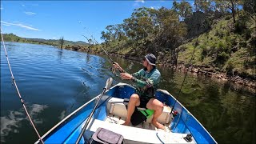
[[(122, 98), (110, 98), (110, 100), (107, 102), (107, 110), (109, 114), (113, 114), (121, 118), (126, 118), (127, 116), (126, 102), (124, 102), (124, 99)], [(145, 110), (145, 108), (138, 108), (138, 110)], [(164, 106), (162, 114), (158, 118), (158, 122), (162, 124), (170, 123), (170, 110), (170, 106)], [(148, 118), (146, 122), (151, 122), (152, 118), (153, 116)]]

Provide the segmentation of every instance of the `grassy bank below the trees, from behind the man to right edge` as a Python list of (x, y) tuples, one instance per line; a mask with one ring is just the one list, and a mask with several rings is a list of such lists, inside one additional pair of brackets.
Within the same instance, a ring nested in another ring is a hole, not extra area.
[[(189, 66), (194, 51), (192, 65), (195, 68), (214, 73), (226, 73), (230, 76), (255, 79), (255, 44), (256, 32), (254, 19), (238, 18), (242, 21), (237, 27), (232, 24), (230, 15), (215, 19), (210, 30), (198, 37), (190, 38), (175, 50), (177, 65), (172, 62), (171, 50), (154, 50), (145, 43), (134, 46), (126, 41), (114, 41), (103, 45), (110, 54), (118, 54), (123, 58), (140, 61), (142, 55), (153, 53), (158, 56), (158, 64), (165, 66)], [(143, 42), (143, 41), (142, 41)], [(102, 53), (99, 46), (92, 48)]]

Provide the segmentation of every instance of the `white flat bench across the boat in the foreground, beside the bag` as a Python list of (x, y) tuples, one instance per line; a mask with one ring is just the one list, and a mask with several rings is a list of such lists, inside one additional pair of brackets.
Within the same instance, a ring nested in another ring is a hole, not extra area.
[(84, 138), (89, 139), (98, 127), (122, 134), (125, 138), (125, 143), (196, 143), (194, 142), (194, 138), (192, 138), (192, 142), (186, 142), (184, 140), (186, 134), (146, 130), (132, 126), (123, 126), (115, 123), (104, 122), (98, 119), (94, 119), (90, 122), (90, 125), (84, 134)]

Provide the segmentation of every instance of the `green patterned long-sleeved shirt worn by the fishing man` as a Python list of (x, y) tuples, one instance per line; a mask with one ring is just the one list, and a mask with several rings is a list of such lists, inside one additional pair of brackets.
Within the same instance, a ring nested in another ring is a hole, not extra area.
[(132, 76), (134, 77), (137, 92), (146, 97), (153, 98), (154, 90), (158, 89), (160, 82), (161, 74), (159, 70), (154, 68), (150, 72), (147, 72), (145, 69), (142, 69), (132, 74)]

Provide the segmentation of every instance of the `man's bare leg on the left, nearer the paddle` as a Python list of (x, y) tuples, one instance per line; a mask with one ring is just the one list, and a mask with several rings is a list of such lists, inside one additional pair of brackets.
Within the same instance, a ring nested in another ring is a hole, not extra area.
[(130, 101), (128, 103), (126, 122), (123, 123), (122, 125), (125, 125), (125, 126), (130, 125), (131, 115), (134, 114), (135, 106), (139, 106), (139, 104), (140, 104), (140, 101), (139, 101), (138, 94), (132, 94), (130, 96)]

